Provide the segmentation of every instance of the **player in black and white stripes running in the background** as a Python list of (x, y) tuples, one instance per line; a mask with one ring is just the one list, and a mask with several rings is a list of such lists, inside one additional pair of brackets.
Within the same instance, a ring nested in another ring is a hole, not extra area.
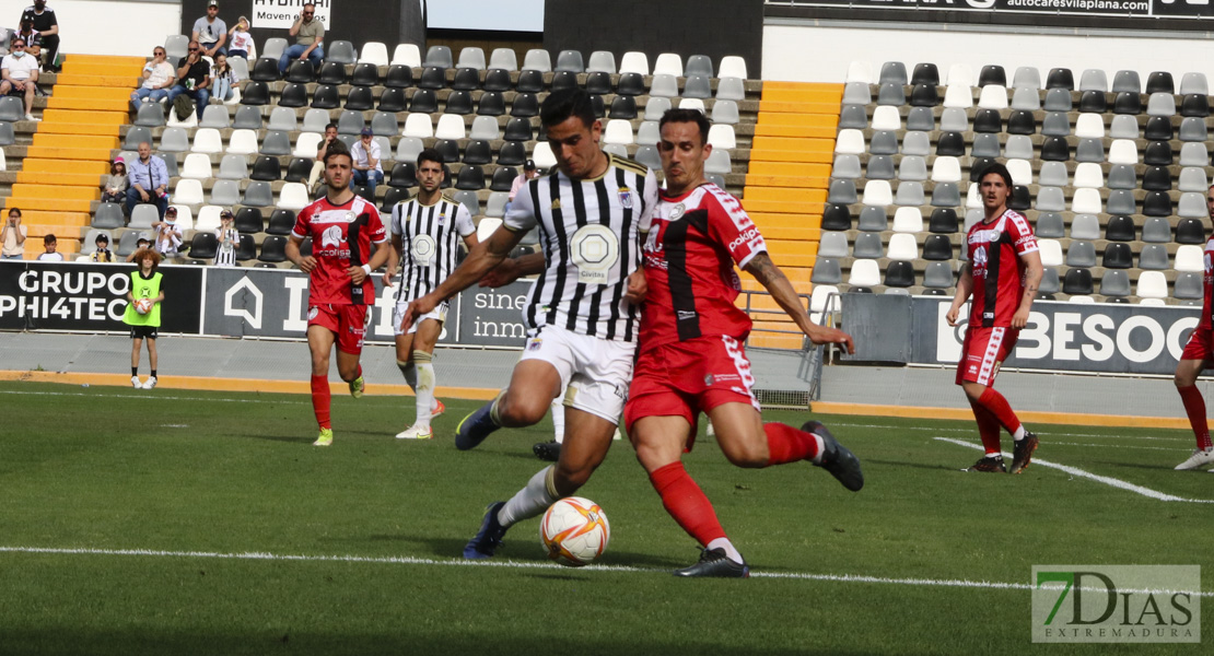
[(391, 287), (397, 268), (401, 286), (396, 290), (392, 325), (396, 327), (396, 366), (418, 395), (418, 418), (397, 439), (426, 440), (433, 437), (430, 420), (442, 415), (443, 404), (435, 399), (435, 343), (447, 320), (447, 302), (419, 316), (408, 330), (401, 326), (404, 310), (414, 298), (425, 296), (455, 268), (459, 240), (471, 251), (476, 247), (476, 226), (467, 207), (444, 196), (443, 160), (433, 148), (418, 155), (418, 195), (392, 207), (392, 256), (384, 273), (384, 286)]

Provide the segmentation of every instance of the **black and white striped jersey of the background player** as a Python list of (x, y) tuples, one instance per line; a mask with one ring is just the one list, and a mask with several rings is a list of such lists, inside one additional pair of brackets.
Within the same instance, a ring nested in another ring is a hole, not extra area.
[(420, 298), (455, 269), (459, 243), (476, 232), (467, 207), (443, 195), (433, 205), (418, 196), (392, 207), (388, 229), (401, 235), (401, 284), (396, 301)]

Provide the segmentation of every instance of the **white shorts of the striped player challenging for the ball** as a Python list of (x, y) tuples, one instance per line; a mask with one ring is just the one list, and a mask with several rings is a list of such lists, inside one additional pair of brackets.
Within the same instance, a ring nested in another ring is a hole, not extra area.
[(618, 424), (628, 400), (635, 353), (636, 344), (631, 342), (544, 326), (539, 335), (527, 340), (520, 361), (543, 360), (555, 366), (561, 389), (568, 388), (565, 405)]

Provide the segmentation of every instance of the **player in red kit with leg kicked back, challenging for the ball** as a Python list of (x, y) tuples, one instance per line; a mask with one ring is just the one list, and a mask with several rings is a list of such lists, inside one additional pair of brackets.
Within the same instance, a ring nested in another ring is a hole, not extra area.
[(698, 563), (675, 574), (745, 577), (749, 567), (681, 462), (700, 412), (738, 467), (810, 461), (852, 491), (864, 478), (856, 456), (821, 423), (762, 423), (743, 349), (750, 318), (733, 304), (741, 290), (734, 266), (754, 275), (813, 343), (844, 344), (849, 353), (855, 347), (847, 333), (810, 320), (738, 199), (705, 181), (713, 147), (704, 114), (673, 109), (659, 129), (666, 189), (645, 244), (648, 291), (624, 423), (666, 512), (704, 547)]

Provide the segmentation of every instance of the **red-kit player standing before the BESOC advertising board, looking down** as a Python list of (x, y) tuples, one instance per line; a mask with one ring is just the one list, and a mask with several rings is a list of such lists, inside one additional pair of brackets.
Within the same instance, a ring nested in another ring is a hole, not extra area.
[(999, 427), (1014, 441), (1011, 473), (1028, 467), (1037, 450), (1037, 435), (1025, 429), (1008, 399), (994, 390), (999, 365), (1016, 347), (1020, 329), (1028, 323), (1028, 310), (1042, 281), (1042, 256), (1028, 219), (1008, 209), (1011, 173), (992, 164), (978, 177), (982, 221), (970, 227), (961, 245), (961, 278), (947, 319), (957, 325), (961, 306), (970, 303), (969, 326), (957, 365), (957, 384), (969, 397), (986, 455), (970, 472), (1006, 472), (999, 450)]

